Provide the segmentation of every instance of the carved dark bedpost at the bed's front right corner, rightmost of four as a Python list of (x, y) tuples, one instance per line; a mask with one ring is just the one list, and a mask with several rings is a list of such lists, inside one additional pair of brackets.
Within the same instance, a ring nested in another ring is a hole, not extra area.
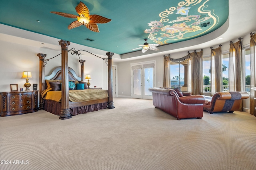
[(108, 109), (114, 109), (114, 102), (113, 102), (113, 91), (112, 91), (112, 86), (113, 86), (113, 70), (112, 70), (112, 56), (114, 53), (108, 52), (106, 53), (108, 56)]

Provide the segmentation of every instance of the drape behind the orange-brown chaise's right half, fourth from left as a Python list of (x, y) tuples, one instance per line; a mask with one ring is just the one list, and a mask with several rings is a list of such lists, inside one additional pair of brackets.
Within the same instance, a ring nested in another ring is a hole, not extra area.
[[(229, 49), (229, 68), (228, 68), (228, 82), (229, 91), (242, 92), (243, 79), (242, 79), (242, 42), (241, 38), (236, 43), (230, 41)], [(243, 111), (243, 103), (241, 102), (239, 111)]]

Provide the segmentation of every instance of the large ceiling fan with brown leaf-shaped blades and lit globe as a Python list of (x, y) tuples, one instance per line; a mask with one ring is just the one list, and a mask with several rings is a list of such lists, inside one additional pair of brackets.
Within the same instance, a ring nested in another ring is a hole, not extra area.
[(78, 16), (73, 14), (67, 14), (64, 12), (51, 12), (53, 14), (57, 14), (59, 16), (63, 16), (66, 18), (76, 18), (77, 20), (70, 23), (68, 25), (68, 29), (76, 28), (81, 25), (86, 26), (88, 29), (94, 32), (100, 32), (97, 23), (108, 23), (111, 19), (105, 18), (99, 15), (90, 15), (90, 11), (87, 6), (80, 1), (80, 3), (76, 6), (76, 12)]

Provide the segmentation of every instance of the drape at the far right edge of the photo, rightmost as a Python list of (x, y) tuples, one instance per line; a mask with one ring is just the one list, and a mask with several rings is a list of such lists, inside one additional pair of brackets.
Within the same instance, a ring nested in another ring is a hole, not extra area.
[[(250, 88), (255, 88), (256, 85), (256, 34), (250, 33), (250, 66), (251, 66), (251, 83)], [(256, 98), (256, 91), (250, 90), (250, 114), (256, 116), (255, 111), (255, 99)]]

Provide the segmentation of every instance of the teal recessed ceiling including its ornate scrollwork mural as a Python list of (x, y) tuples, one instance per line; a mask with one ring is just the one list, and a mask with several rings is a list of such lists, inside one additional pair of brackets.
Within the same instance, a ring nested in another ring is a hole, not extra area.
[[(100, 32), (90, 31), (86, 27), (68, 29), (68, 24), (73, 22), (74, 18), (51, 13), (55, 11), (76, 14), (76, 6), (80, 1), (90, 9), (90, 14), (104, 16), (111, 21), (98, 24)], [(17, 0), (2, 0), (0, 16), (4, 17), (0, 17), (0, 23), (122, 55), (137, 51), (132, 49), (143, 44), (144, 39), (147, 39), (148, 44), (159, 46), (178, 43), (206, 35), (228, 21), (229, 0), (146, 2), (23, 0), (17, 5)]]

